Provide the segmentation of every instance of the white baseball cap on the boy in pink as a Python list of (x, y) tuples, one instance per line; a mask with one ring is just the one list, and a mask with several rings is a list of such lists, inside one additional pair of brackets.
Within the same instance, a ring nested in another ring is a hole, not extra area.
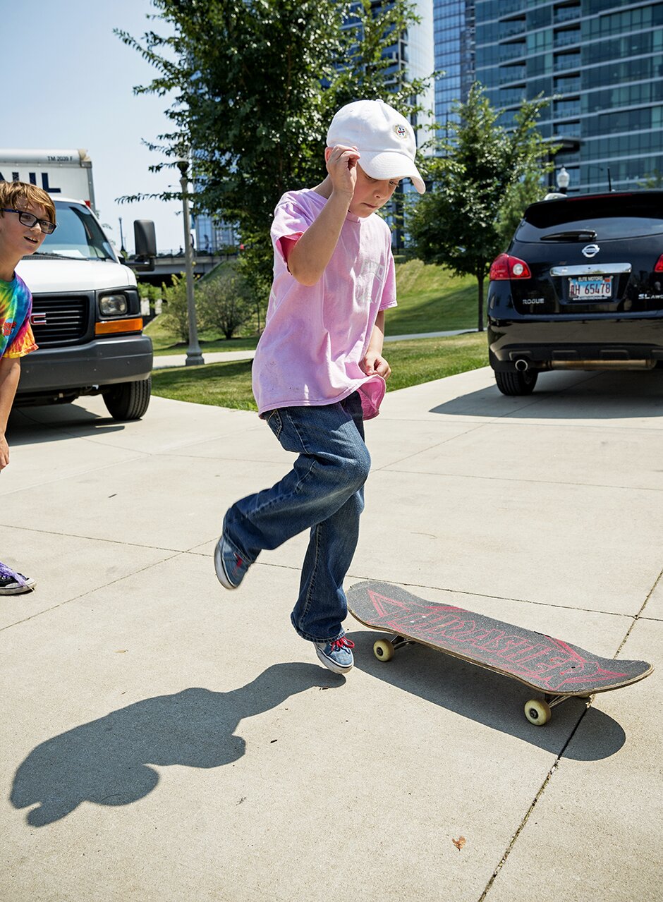
[(405, 116), (382, 100), (355, 100), (342, 106), (327, 132), (327, 147), (336, 144), (356, 147), (359, 165), (372, 179), (408, 178), (419, 194), (426, 190), (414, 164), (414, 130)]

